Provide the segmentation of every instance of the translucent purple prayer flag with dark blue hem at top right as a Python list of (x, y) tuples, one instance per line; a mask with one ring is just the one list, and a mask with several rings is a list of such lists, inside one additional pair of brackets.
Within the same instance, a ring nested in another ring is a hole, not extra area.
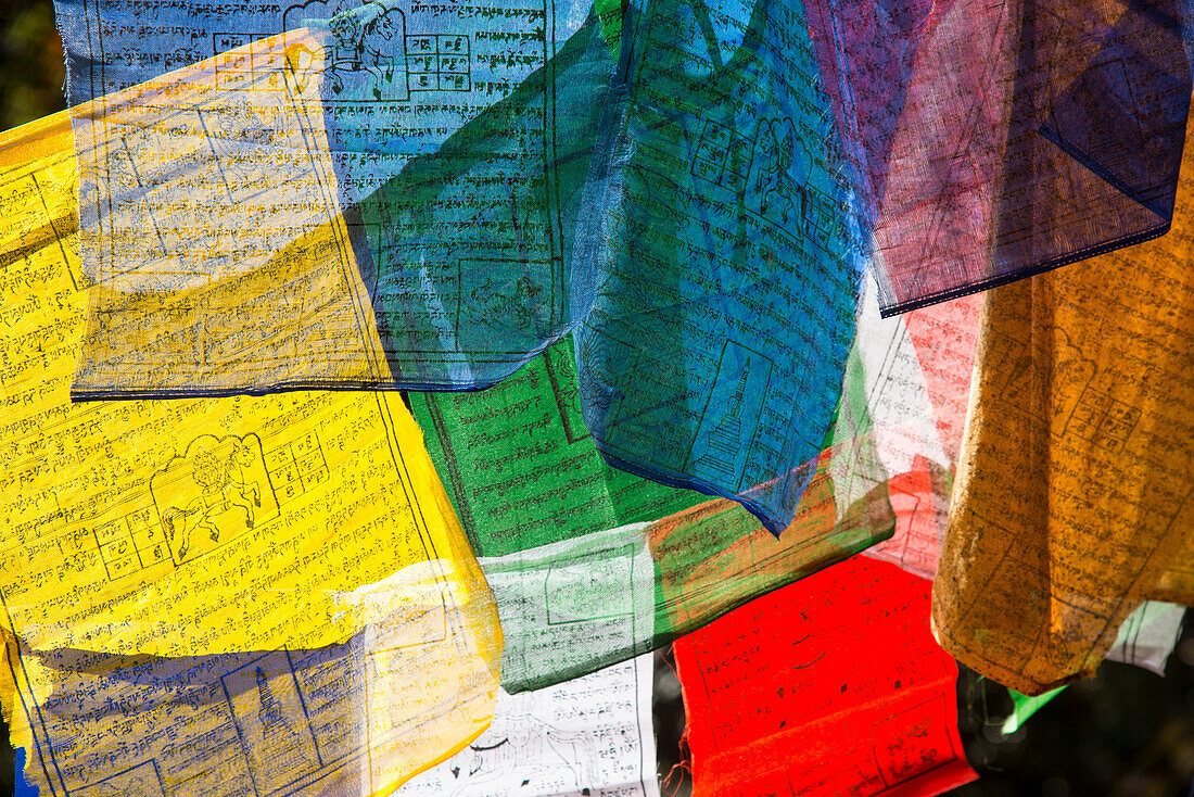
[(1186, 0), (810, 0), (884, 312), (1169, 229), (1190, 14)]

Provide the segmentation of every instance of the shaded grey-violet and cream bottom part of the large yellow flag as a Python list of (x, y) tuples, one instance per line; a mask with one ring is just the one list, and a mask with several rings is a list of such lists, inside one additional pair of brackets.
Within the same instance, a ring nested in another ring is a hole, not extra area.
[(473, 608), (436, 570), (343, 595), (361, 631), (312, 650), (35, 651), (0, 625), (0, 705), (26, 779), (105, 797), (393, 792), (475, 740), (498, 694)]

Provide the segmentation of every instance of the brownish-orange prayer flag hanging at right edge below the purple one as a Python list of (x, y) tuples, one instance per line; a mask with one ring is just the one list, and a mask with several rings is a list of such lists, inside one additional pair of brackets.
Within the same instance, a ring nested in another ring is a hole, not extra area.
[(1165, 238), (987, 294), (934, 584), (942, 645), (1038, 694), (1194, 601), (1194, 179)]

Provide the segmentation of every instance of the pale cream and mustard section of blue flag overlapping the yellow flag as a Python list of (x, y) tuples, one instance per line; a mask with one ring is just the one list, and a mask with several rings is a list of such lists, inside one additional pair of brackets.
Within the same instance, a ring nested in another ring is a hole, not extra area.
[(76, 398), (128, 398), (147, 376), (141, 397), (392, 381), (340, 204), (321, 37), (258, 39), (70, 109), (94, 283)]

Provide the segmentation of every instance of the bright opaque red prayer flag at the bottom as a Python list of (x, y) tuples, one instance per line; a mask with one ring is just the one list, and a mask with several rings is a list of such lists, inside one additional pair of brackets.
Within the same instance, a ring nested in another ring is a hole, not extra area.
[(694, 797), (929, 797), (974, 780), (929, 588), (856, 557), (678, 639)]

